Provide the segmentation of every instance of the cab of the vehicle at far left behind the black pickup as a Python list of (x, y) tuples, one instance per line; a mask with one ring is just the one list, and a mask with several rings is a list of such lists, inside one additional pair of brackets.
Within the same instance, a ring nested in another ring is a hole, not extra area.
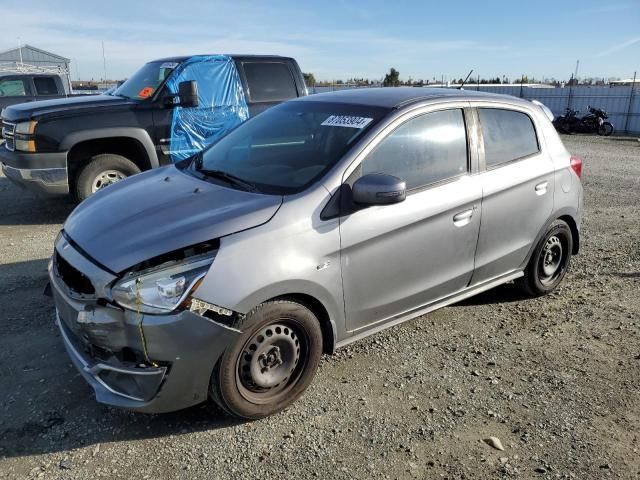
[(68, 82), (50, 73), (0, 73), (0, 109), (18, 103), (64, 98)]

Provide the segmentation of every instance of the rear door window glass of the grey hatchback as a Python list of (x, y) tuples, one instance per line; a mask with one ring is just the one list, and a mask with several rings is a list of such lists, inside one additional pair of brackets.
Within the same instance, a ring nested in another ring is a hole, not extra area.
[(526, 113), (498, 108), (479, 108), (487, 168), (537, 153), (538, 138)]

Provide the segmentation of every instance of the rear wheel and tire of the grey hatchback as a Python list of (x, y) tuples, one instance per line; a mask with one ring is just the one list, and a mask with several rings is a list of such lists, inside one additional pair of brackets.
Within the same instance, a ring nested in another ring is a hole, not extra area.
[(522, 289), (532, 297), (552, 292), (569, 269), (573, 236), (563, 220), (553, 222), (538, 242), (524, 277), (519, 279)]

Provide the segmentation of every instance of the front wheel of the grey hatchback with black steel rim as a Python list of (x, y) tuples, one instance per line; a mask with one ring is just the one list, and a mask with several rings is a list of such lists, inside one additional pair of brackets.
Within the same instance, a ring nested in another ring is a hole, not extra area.
[(278, 300), (248, 313), (239, 328), (242, 335), (213, 370), (210, 395), (231, 415), (263, 418), (293, 403), (313, 380), (320, 323), (305, 306)]

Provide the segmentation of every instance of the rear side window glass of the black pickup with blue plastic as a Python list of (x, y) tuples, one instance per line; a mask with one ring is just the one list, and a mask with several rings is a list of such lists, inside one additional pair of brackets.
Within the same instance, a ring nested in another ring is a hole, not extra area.
[(298, 96), (286, 63), (243, 63), (252, 102), (277, 102)]

